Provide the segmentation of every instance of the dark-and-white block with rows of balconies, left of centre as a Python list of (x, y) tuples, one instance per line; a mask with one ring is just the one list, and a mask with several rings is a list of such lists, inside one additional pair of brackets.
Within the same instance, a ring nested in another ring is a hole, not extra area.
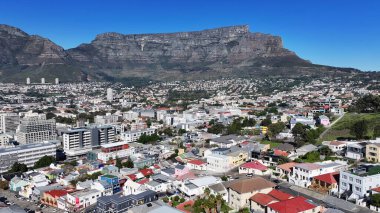
[(115, 142), (115, 128), (110, 125), (69, 129), (63, 132), (63, 150), (68, 159), (86, 155), (93, 147)]

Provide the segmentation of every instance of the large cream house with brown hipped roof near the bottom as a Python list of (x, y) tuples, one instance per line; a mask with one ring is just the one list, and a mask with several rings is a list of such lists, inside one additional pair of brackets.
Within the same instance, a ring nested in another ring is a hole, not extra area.
[(262, 177), (236, 180), (227, 186), (228, 203), (234, 210), (249, 207), (249, 199), (257, 193), (268, 193), (276, 185)]

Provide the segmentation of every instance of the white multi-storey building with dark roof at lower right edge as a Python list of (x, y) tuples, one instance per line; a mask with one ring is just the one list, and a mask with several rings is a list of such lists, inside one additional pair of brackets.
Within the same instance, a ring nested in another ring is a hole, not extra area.
[(359, 168), (343, 171), (339, 177), (339, 196), (358, 200), (369, 195), (373, 188), (380, 187), (380, 166), (361, 165)]

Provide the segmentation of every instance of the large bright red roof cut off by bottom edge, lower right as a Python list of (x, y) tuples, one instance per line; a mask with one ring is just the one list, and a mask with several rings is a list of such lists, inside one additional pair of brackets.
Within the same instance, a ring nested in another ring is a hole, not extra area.
[(298, 213), (314, 209), (317, 206), (307, 202), (306, 198), (300, 196), (277, 203), (271, 203), (268, 207), (278, 213)]

